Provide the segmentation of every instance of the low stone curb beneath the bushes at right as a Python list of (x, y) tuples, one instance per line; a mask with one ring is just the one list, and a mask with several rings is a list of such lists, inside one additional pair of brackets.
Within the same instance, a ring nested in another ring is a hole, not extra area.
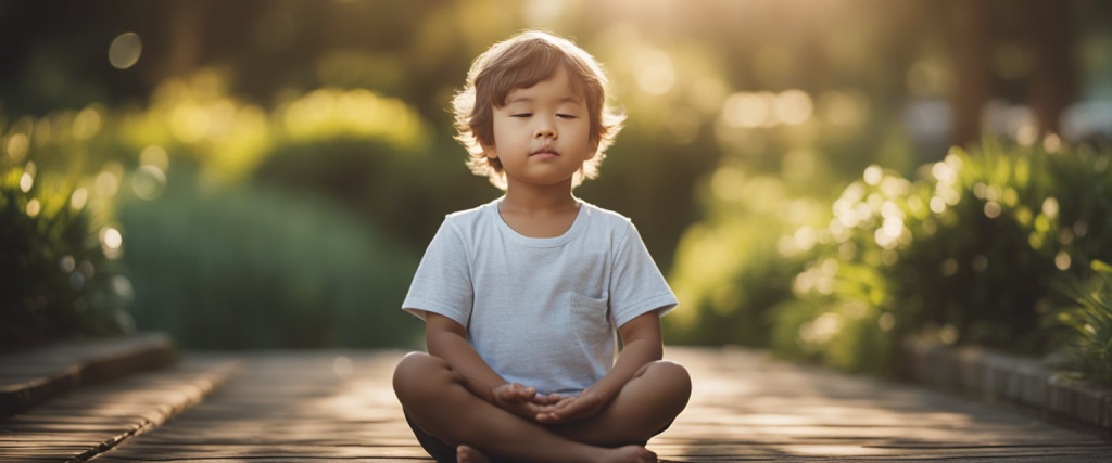
[(1112, 437), (1112, 389), (1070, 379), (1036, 360), (914, 339), (901, 343), (898, 356), (905, 379), (1016, 403)]

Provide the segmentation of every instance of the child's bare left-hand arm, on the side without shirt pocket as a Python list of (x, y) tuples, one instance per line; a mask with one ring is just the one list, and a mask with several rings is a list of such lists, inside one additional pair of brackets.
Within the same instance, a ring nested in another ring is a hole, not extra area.
[(467, 343), (466, 329), (456, 321), (431, 312), (425, 314), (428, 353), (448, 362), (464, 376), (464, 386), (476, 396), (527, 419), (535, 419), (543, 405), (558, 399), (538, 397), (534, 387), (509, 384)]

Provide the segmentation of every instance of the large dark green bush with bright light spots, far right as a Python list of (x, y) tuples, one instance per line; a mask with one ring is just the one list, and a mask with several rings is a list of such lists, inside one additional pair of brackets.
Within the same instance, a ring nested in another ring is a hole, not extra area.
[[(1112, 253), (1110, 154), (985, 141), (924, 167), (914, 183), (871, 167), (834, 202), (822, 231), (833, 240), (795, 278), (797, 295), (813, 305), (805, 310), (817, 315), (782, 313), (776, 332), (800, 338), (804, 323), (856, 302), (875, 323), (854, 335), (878, 341), (864, 355), (894, 351), (904, 334), (1048, 352), (1063, 334), (1054, 312), (1068, 303), (1053, 282), (1085, 276), (1085, 262)], [(834, 360), (854, 351), (836, 345), (838, 338), (822, 339), (820, 360), (883, 365)]]

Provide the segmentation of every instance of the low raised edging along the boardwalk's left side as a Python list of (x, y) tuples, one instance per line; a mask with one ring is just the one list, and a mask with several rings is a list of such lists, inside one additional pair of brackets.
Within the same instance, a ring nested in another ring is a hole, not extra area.
[(177, 361), (163, 333), (70, 341), (0, 355), (0, 419), (26, 412), (88, 384)]

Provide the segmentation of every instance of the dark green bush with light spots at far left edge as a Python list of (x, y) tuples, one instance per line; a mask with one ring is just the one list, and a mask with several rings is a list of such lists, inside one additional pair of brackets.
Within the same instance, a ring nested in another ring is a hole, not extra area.
[(132, 330), (122, 310), (131, 285), (105, 256), (85, 200), (72, 200), (77, 182), (2, 162), (0, 350)]

